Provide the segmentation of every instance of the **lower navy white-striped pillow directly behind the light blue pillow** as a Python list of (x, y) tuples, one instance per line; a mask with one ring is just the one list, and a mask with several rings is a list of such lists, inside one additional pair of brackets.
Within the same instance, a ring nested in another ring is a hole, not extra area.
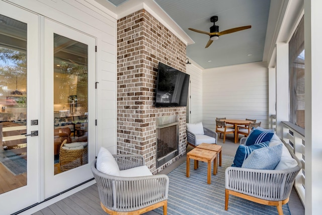
[(263, 147), (268, 147), (270, 144), (269, 141), (261, 142), (260, 144), (254, 144), (252, 146), (245, 146), (245, 145), (239, 145), (235, 158), (233, 160), (232, 167), (241, 167), (243, 165), (244, 161), (247, 159), (247, 157), (257, 149), (261, 149)]

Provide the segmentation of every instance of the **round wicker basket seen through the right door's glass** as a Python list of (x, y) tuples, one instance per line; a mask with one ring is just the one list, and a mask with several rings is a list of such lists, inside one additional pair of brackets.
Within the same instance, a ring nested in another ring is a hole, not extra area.
[(63, 145), (60, 145), (59, 151), (61, 171), (67, 171), (89, 163), (87, 147), (79, 150), (66, 150), (62, 148)]

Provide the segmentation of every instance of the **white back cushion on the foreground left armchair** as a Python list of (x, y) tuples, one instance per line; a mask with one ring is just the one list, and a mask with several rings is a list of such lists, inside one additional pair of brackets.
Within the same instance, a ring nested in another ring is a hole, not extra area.
[(119, 176), (120, 169), (112, 154), (101, 147), (96, 160), (96, 169), (105, 174)]

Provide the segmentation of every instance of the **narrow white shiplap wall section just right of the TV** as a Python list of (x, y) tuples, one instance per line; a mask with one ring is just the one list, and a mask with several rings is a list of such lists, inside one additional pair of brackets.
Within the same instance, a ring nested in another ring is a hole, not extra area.
[(202, 121), (202, 69), (194, 64), (187, 64), (187, 74), (190, 75), (189, 122)]

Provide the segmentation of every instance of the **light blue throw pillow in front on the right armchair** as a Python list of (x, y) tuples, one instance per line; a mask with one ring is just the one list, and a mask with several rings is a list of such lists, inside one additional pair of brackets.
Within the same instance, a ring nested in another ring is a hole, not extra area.
[(282, 144), (253, 151), (244, 161), (242, 168), (274, 170), (281, 160)]

